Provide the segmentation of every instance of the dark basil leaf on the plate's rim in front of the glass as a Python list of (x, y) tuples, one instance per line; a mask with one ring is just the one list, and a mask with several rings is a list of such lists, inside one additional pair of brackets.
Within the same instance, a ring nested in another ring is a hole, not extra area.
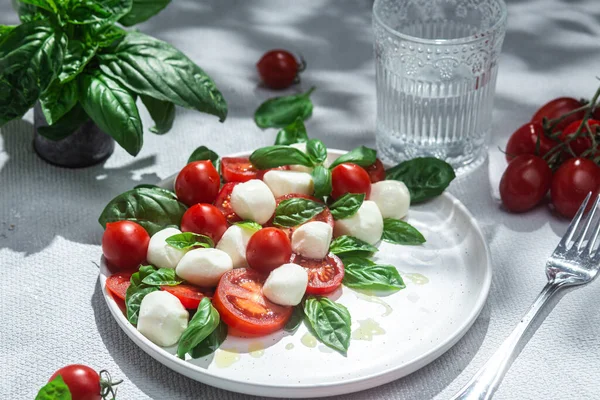
[(404, 182), (410, 192), (411, 204), (416, 204), (442, 194), (454, 178), (454, 169), (447, 162), (422, 157), (388, 169), (385, 179)]

